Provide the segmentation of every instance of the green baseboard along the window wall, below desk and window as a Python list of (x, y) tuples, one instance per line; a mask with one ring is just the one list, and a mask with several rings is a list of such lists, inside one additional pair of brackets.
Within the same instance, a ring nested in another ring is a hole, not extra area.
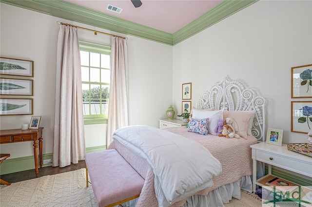
[[(88, 147), (86, 148), (86, 153), (102, 151), (102, 150), (106, 150), (106, 148), (107, 148), (106, 145)], [(52, 153), (42, 155), (42, 160), (45, 160), (45, 159), (52, 160)], [(52, 166), (52, 163), (42, 165), (42, 167), (47, 167), (47, 166)], [(24, 156), (24, 157), (6, 159), (0, 165), (0, 175), (9, 174), (9, 173), (17, 173), (20, 171), (27, 171), (27, 170), (32, 170), (32, 169), (35, 169), (34, 156)]]

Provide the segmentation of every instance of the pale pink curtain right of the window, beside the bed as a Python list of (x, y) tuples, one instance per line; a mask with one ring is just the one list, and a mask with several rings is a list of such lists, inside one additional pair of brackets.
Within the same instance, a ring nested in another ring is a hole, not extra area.
[(128, 126), (128, 52), (126, 40), (112, 37), (111, 84), (108, 104), (107, 146), (120, 127)]

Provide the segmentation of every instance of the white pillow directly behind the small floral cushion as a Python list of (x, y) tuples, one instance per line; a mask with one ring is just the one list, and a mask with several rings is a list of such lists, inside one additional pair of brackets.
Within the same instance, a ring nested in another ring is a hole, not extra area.
[(217, 125), (217, 121), (223, 119), (222, 110), (217, 111), (208, 111), (202, 109), (193, 108), (193, 116), (194, 119), (206, 119), (209, 118), (208, 121), (208, 133), (212, 135), (216, 135), (215, 127)]

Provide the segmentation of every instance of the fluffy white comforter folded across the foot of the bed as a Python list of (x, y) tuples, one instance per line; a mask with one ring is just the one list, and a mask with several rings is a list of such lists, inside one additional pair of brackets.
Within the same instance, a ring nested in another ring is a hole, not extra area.
[(145, 158), (155, 174), (160, 207), (213, 187), (213, 177), (222, 173), (221, 163), (201, 144), (151, 126), (128, 126), (113, 138)]

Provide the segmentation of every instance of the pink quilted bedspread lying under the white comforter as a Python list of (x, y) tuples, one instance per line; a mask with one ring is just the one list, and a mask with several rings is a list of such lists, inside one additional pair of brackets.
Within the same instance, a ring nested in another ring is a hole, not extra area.
[[(188, 132), (186, 127), (171, 127), (165, 130), (197, 141), (206, 147), (222, 164), (222, 174), (214, 178), (214, 187), (201, 190), (195, 194), (207, 195), (211, 190), (233, 183), (243, 176), (253, 174), (250, 145), (257, 143), (256, 138), (252, 136), (247, 136), (247, 139), (225, 138), (210, 134), (203, 136)], [(113, 140), (108, 149), (117, 149), (120, 155), (145, 179), (136, 207), (158, 207), (154, 190), (154, 173), (151, 166), (117, 140)], [(183, 206), (185, 200), (186, 198), (176, 202), (172, 207)]]

